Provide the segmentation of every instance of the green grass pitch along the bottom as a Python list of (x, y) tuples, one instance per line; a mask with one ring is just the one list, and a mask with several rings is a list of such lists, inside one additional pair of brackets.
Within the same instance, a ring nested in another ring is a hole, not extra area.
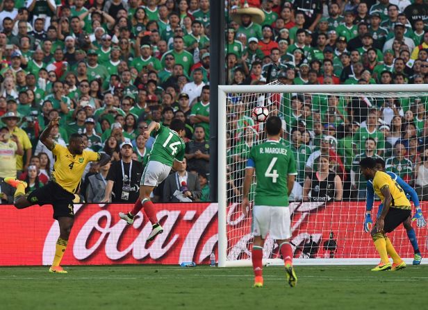
[(428, 266), (375, 273), (370, 266), (297, 266), (295, 288), (280, 267), (72, 266), (0, 268), (1, 309), (427, 309)]

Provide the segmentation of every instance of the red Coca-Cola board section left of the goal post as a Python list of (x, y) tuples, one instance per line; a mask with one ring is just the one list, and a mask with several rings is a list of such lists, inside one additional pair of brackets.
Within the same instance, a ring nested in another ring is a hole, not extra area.
[[(132, 207), (74, 205), (74, 227), (61, 264), (205, 264), (217, 249), (216, 203), (156, 204), (164, 232), (151, 242), (146, 218), (127, 225), (117, 215)], [(51, 264), (59, 236), (51, 206), (0, 208), (0, 266)]]

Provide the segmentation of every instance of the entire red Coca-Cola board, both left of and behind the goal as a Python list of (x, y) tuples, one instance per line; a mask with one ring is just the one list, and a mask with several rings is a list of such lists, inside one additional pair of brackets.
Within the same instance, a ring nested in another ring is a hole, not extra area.
[[(164, 233), (152, 242), (147, 242), (151, 224), (142, 214), (133, 225), (117, 216), (132, 207), (75, 205), (75, 223), (62, 264), (208, 264), (213, 250), (218, 257), (217, 203), (156, 204)], [(252, 248), (251, 218), (244, 218), (239, 207), (230, 205), (227, 209), (228, 259), (247, 259)], [(425, 218), (427, 207), (422, 204)], [(363, 232), (364, 202), (291, 203), (290, 214), (295, 257), (377, 257), (370, 234)], [(59, 230), (50, 206), (18, 210), (1, 205), (0, 223), (0, 266), (51, 264)], [(422, 255), (426, 255), (427, 227), (412, 225)], [(402, 225), (389, 236), (402, 257), (413, 257)], [(312, 252), (308, 252), (310, 242), (315, 246)], [(270, 239), (265, 243), (264, 257), (277, 257)]]

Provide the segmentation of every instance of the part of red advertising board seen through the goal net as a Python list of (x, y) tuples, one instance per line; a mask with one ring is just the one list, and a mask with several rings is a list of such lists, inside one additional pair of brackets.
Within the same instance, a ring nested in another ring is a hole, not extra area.
[[(290, 203), (291, 238), (297, 258), (377, 258), (370, 234), (363, 231), (365, 203)], [(377, 210), (374, 209), (373, 214)], [(227, 209), (228, 260), (249, 259), (252, 250), (251, 218), (245, 218), (239, 204)], [(425, 239), (426, 228), (418, 229)], [(389, 234), (402, 257), (413, 257), (413, 249), (402, 226)], [(334, 246), (333, 246), (334, 245)], [(422, 251), (426, 251), (425, 249)], [(264, 258), (278, 258), (277, 244), (269, 236)]]

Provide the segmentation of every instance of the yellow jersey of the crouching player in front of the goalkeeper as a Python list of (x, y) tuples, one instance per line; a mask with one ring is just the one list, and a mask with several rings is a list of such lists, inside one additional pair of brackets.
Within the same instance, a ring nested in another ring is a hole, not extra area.
[(390, 207), (396, 207), (400, 209), (411, 208), (410, 201), (407, 199), (406, 193), (404, 193), (404, 190), (400, 187), (400, 185), (397, 184), (397, 182), (395, 182), (388, 174), (382, 171), (377, 171), (375, 178), (373, 179), (373, 189), (375, 190), (375, 193), (377, 193), (377, 196), (381, 198), (382, 203), (384, 203), (385, 197), (381, 193), (381, 189), (384, 187), (389, 188), (393, 198)]

